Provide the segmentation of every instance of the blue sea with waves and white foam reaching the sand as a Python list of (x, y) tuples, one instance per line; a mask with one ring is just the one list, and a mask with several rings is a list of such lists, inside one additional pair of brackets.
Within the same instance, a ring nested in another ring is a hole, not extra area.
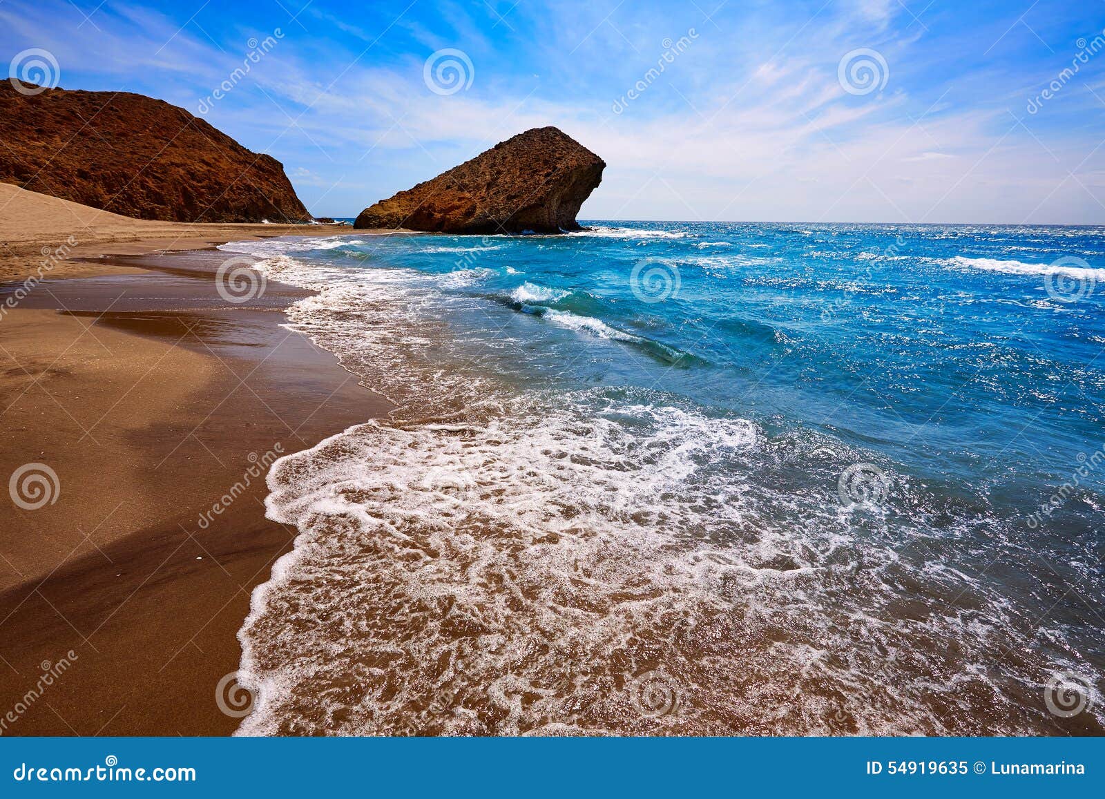
[(243, 732), (1103, 732), (1105, 230), (223, 249), (397, 403), (270, 475)]

